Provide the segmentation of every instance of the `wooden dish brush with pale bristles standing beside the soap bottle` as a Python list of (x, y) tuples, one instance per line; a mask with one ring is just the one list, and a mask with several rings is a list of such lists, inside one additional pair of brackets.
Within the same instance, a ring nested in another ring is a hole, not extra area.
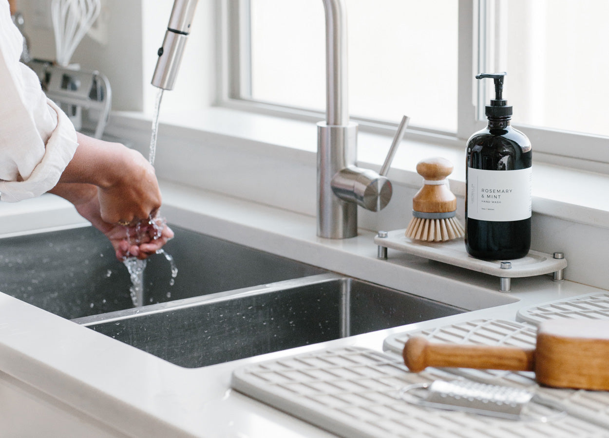
[(446, 179), (452, 169), (452, 163), (441, 157), (418, 162), (417, 173), (423, 176), (423, 187), (412, 198), (412, 220), (406, 228), (406, 237), (424, 242), (446, 242), (465, 234), (455, 217), (457, 197)]

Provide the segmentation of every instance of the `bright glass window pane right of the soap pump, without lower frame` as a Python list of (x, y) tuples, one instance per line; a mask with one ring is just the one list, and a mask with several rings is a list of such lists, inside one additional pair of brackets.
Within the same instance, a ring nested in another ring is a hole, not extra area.
[[(488, 10), (507, 71), (506, 95), (526, 125), (609, 136), (609, 3), (604, 0), (511, 0)], [(494, 53), (493, 53), (494, 52)]]

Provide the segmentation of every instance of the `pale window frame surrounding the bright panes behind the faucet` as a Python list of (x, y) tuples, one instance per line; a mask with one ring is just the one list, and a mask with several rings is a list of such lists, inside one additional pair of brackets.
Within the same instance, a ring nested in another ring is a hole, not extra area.
[[(312, 0), (313, 1), (313, 0)], [(251, 95), (251, 51), (248, 33), (250, 0), (218, 0), (219, 2), (219, 90), (217, 105), (258, 114), (287, 117), (310, 122), (325, 118), (323, 111), (295, 108), (247, 97)], [(323, 5), (320, 2), (320, 13)], [(459, 44), (457, 68), (457, 132), (446, 133), (421, 127), (409, 127), (406, 136), (435, 144), (460, 145), (471, 134), (486, 125), (485, 87), (474, 76), (492, 69), (494, 60), (485, 58), (488, 44), (500, 44), (501, 27), (495, 19), (501, 13), (493, 0), (459, 0)], [(488, 29), (495, 29), (488, 35)], [(396, 123), (352, 117), (360, 129), (393, 135)], [(517, 120), (516, 120), (517, 122)], [(609, 173), (609, 137), (561, 131), (513, 123), (533, 144), (536, 161), (563, 165), (593, 172)], [(575, 147), (574, 147), (575, 145)]]

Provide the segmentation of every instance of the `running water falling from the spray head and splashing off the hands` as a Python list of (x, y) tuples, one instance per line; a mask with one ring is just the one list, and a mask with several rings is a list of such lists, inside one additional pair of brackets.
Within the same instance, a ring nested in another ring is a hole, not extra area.
[[(158, 134), (158, 116), (161, 108), (161, 99), (163, 99), (163, 89), (158, 89), (157, 101), (155, 103), (154, 115), (152, 118), (152, 134), (150, 136), (150, 148), (149, 148), (149, 156), (148, 161), (151, 165), (154, 165), (154, 161), (157, 155), (157, 134)], [(136, 235), (135, 235), (135, 243), (138, 243), (142, 238), (146, 236), (146, 234), (150, 235), (150, 229), (152, 228), (154, 233), (152, 238), (161, 237), (161, 232), (165, 226), (165, 221), (163, 218), (153, 218), (149, 217), (147, 223), (138, 223), (136, 226)], [(130, 242), (129, 237), (129, 228), (125, 227), (125, 231), (127, 232), (127, 240)], [(178, 269), (175, 266), (174, 258), (167, 254), (164, 249), (158, 249), (157, 254), (163, 254), (165, 259), (171, 265), (171, 280), (169, 281), (169, 285), (174, 285), (175, 277), (178, 275)], [(127, 268), (129, 276), (131, 277), (132, 286), (129, 288), (131, 293), (131, 299), (133, 301), (133, 306), (141, 307), (144, 305), (144, 270), (146, 269), (146, 259), (139, 260), (137, 257), (125, 257), (122, 260), (122, 263)], [(171, 296), (171, 292), (167, 292), (167, 297)]]

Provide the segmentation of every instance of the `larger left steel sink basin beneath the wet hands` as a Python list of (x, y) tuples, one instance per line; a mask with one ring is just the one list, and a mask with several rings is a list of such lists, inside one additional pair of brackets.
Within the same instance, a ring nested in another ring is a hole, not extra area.
[[(213, 294), (312, 274), (323, 269), (172, 226), (165, 246), (171, 265), (153, 255), (144, 276), (144, 303)], [(108, 240), (86, 226), (0, 238), (0, 291), (63, 318), (133, 307), (127, 269)]]

